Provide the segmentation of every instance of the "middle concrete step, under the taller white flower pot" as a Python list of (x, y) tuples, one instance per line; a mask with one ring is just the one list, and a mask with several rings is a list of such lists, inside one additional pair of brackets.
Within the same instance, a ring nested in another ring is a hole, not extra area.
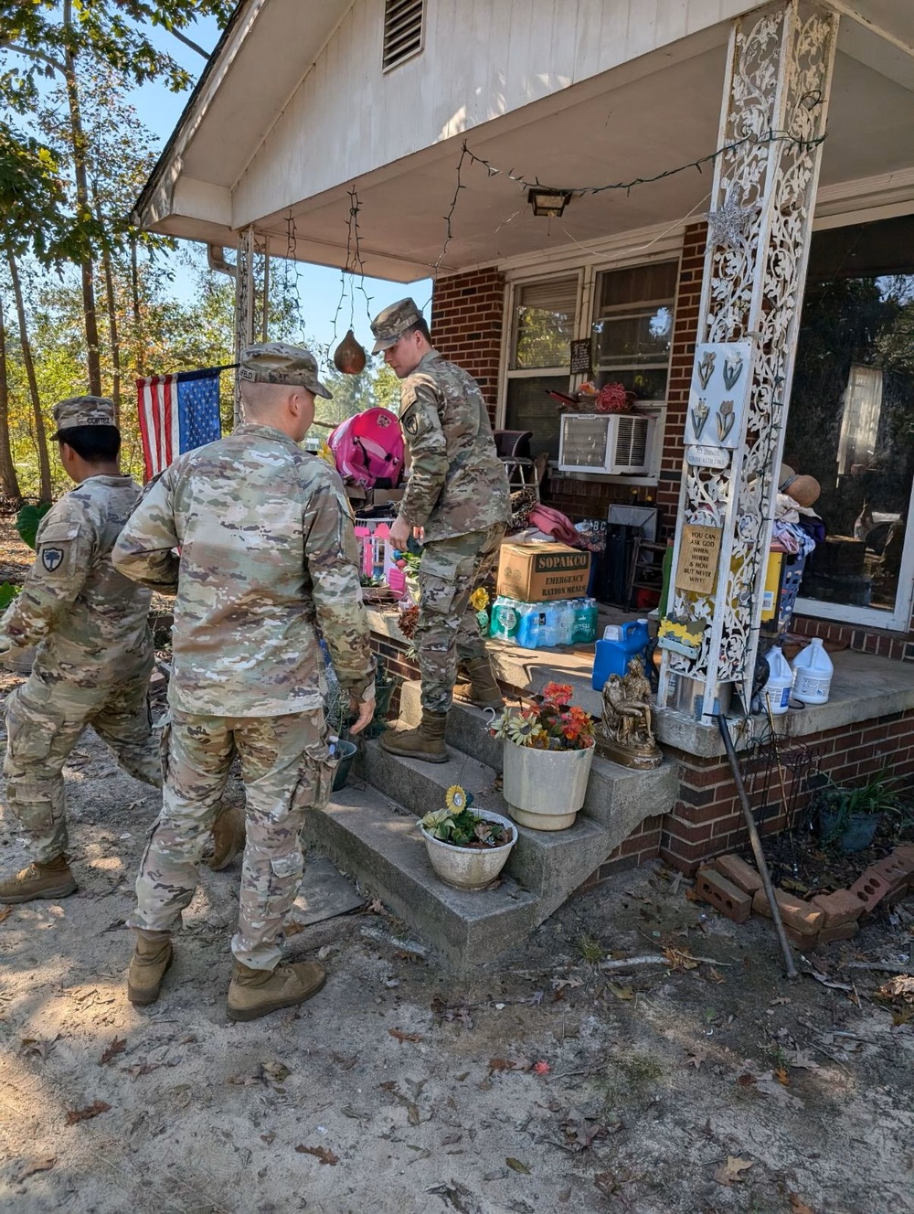
[[(387, 754), (379, 742), (365, 742), (358, 771), (369, 784), (394, 798), (418, 818), (441, 809), (452, 784), (461, 784), (472, 793), (479, 809), (510, 816), (496, 787), (495, 771), (456, 749), (452, 750), (449, 762), (432, 764), (401, 759)], [(540, 898), (544, 919), (586, 881), (624, 838), (580, 816), (568, 830), (518, 827), (517, 834), (505, 872)]]

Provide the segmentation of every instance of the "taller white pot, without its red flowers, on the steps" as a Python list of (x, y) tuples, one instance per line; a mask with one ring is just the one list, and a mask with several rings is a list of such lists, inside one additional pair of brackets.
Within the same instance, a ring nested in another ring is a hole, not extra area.
[(515, 822), (533, 830), (574, 826), (587, 790), (594, 747), (538, 750), (505, 739), (503, 794)]

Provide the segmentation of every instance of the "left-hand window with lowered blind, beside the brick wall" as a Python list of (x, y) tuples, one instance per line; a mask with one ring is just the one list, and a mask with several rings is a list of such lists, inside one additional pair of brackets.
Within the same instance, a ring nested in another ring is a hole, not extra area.
[(558, 459), (558, 402), (568, 392), (570, 341), (578, 314), (578, 274), (515, 288), (505, 429), (529, 430), (530, 453)]

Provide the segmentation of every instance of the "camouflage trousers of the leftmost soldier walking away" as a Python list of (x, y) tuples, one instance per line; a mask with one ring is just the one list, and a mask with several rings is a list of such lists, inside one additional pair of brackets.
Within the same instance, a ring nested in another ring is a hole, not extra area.
[(6, 799), (29, 858), (46, 863), (67, 850), (63, 766), (91, 725), (129, 776), (161, 787), (159, 747), (147, 690), (152, 662), (121, 682), (80, 687), (29, 675), (6, 702)]

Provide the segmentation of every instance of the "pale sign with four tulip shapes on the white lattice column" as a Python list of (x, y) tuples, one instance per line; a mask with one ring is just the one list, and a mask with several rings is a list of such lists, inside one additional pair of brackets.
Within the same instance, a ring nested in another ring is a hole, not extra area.
[(738, 447), (751, 387), (751, 341), (699, 342), (688, 393), (686, 446)]

